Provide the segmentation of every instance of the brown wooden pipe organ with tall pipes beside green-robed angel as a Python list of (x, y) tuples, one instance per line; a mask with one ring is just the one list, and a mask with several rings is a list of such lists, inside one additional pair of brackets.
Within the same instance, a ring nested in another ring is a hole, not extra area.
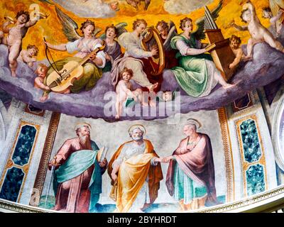
[(222, 77), (228, 81), (236, 69), (229, 69), (231, 62), (234, 62), (235, 55), (229, 45), (229, 38), (224, 38), (221, 29), (217, 27), (217, 24), (215, 23), (214, 18), (207, 6), (204, 6), (204, 9), (204, 33), (209, 41), (209, 45), (207, 46), (206, 50), (210, 52), (214, 64), (221, 72)]

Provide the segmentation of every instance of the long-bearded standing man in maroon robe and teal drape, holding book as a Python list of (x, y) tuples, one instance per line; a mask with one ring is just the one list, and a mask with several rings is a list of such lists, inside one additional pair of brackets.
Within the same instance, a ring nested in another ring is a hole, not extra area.
[(55, 166), (53, 188), (56, 194), (55, 211), (71, 213), (95, 212), (102, 193), (102, 175), (107, 160), (98, 162), (99, 148), (90, 138), (87, 123), (76, 126), (77, 137), (66, 140), (49, 163)]

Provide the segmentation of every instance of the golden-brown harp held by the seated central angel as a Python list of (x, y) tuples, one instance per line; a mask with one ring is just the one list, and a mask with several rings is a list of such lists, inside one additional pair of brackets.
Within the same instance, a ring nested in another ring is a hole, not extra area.
[(151, 51), (153, 46), (158, 48), (158, 54), (149, 57), (151, 58), (150, 63), (152, 66), (151, 74), (157, 76), (161, 74), (165, 68), (165, 50), (163, 48), (163, 42), (160, 39), (158, 31), (153, 27), (146, 28), (142, 35), (143, 39), (141, 40), (141, 45), (143, 50)]

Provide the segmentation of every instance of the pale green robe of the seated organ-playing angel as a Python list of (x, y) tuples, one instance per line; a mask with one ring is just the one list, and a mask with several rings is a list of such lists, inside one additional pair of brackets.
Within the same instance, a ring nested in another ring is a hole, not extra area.
[[(194, 35), (190, 36), (190, 40), (183, 35), (176, 35), (170, 41), (173, 49), (178, 50), (178, 40), (184, 41), (189, 48), (197, 48)], [(175, 74), (175, 79), (182, 89), (190, 96), (199, 97), (207, 89), (208, 70), (205, 60), (212, 60), (211, 55), (187, 55), (182, 56), (180, 52), (176, 55), (179, 66), (173, 67), (171, 70)]]

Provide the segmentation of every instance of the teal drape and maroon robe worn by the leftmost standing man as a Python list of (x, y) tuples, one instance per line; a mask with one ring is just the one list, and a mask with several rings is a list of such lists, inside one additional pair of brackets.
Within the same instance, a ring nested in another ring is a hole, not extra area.
[(95, 205), (102, 193), (102, 169), (97, 162), (98, 150), (96, 143), (92, 141), (92, 150), (73, 152), (55, 170), (55, 210), (80, 213), (96, 211)]

